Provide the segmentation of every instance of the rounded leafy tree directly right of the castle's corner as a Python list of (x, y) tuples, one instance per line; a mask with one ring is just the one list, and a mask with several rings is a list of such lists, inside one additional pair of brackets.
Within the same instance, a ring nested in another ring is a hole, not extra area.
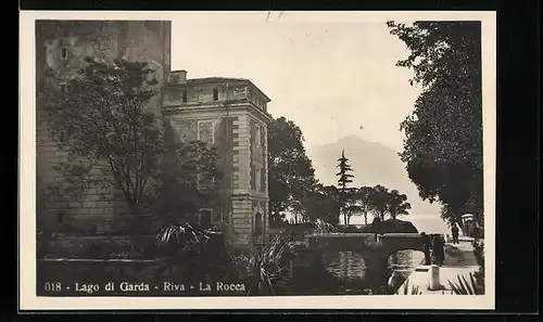
[(285, 211), (296, 209), (316, 188), (317, 179), (303, 146), (300, 127), (285, 117), (276, 118), (268, 129), (269, 209), (272, 222)]

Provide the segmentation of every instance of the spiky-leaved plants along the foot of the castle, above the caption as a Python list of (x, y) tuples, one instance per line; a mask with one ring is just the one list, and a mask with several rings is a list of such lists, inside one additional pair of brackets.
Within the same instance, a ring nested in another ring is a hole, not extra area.
[(294, 254), (287, 234), (275, 236), (251, 254), (223, 254), (217, 249), (218, 244), (224, 245), (223, 240), (215, 239), (218, 243), (211, 243), (217, 234), (190, 223), (172, 224), (156, 234), (156, 242), (184, 267), (180, 279), (211, 281), (214, 276), (215, 280), (243, 283), (248, 286), (247, 295), (274, 295), (287, 283), (287, 257)]

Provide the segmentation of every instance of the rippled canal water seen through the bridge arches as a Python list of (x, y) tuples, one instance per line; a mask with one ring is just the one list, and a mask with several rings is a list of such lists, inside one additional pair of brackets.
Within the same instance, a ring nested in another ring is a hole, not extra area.
[[(396, 283), (401, 284), (422, 260), (424, 254), (421, 252), (395, 252), (389, 256), (389, 271), (387, 275), (395, 271), (401, 276), (396, 280)], [(365, 280), (366, 267), (359, 255), (352, 252), (325, 253), (323, 255), (323, 266), (338, 281), (339, 285), (337, 286), (340, 293), (358, 294), (367, 289), (368, 281)]]

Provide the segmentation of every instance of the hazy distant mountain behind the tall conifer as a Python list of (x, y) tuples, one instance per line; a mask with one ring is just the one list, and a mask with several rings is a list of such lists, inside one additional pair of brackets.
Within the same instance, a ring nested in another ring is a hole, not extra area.
[[(345, 151), (353, 168), (353, 186), (381, 184), (389, 190), (396, 189), (407, 195), (412, 204), (411, 215), (439, 216), (440, 206), (422, 202), (416, 185), (411, 182), (405, 165), (397, 152), (380, 143), (368, 142), (358, 137), (346, 137), (336, 143), (307, 146), (307, 155), (313, 160), (315, 173), (324, 184), (337, 184), (338, 158)], [(406, 220), (408, 217), (401, 217)]]

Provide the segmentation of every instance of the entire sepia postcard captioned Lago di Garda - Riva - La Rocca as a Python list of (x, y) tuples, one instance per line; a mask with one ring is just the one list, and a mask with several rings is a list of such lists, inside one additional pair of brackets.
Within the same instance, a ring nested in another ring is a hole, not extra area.
[(493, 309), (494, 12), (22, 12), (20, 309)]

